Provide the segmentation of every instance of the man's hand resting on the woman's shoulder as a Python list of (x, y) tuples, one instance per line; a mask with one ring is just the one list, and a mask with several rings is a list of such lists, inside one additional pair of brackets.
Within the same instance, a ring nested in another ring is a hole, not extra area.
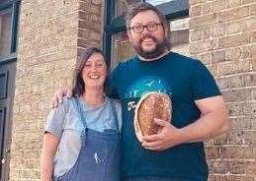
[(60, 89), (58, 91), (55, 91), (54, 95), (51, 98), (51, 108), (57, 107), (58, 104), (63, 102), (64, 96), (71, 97), (72, 91), (69, 89)]

